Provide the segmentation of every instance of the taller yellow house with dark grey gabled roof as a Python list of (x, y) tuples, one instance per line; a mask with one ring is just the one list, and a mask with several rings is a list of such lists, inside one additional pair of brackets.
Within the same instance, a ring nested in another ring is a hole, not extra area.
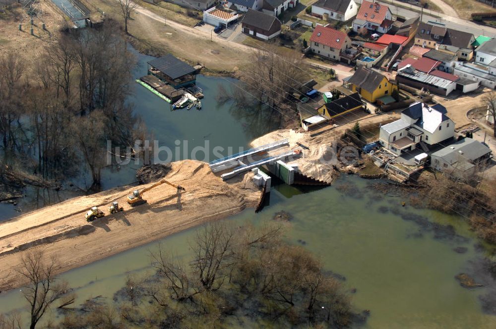
[(377, 99), (391, 96), (398, 87), (379, 72), (373, 71), (365, 66), (357, 68), (355, 74), (346, 81), (348, 88), (357, 92), (363, 99), (375, 103)]

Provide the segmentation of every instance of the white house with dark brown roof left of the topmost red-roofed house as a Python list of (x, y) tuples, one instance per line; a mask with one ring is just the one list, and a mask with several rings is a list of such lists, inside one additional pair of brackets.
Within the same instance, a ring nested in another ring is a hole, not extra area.
[(311, 14), (323, 20), (334, 19), (346, 22), (357, 15), (358, 5), (354, 0), (318, 0), (311, 6)]

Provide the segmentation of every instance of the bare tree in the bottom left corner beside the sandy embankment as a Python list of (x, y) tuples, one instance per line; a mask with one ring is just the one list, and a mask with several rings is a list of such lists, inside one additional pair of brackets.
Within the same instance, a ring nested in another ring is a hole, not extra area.
[(74, 296), (65, 299), (69, 293), (67, 282), (57, 281), (54, 275), (55, 259), (49, 263), (43, 262), (43, 252), (29, 252), (22, 256), (21, 264), (15, 269), (22, 275), (28, 284), (22, 289), (24, 298), (29, 303), (30, 329), (35, 329), (46, 311), (56, 301), (62, 301), (63, 306), (74, 302)]

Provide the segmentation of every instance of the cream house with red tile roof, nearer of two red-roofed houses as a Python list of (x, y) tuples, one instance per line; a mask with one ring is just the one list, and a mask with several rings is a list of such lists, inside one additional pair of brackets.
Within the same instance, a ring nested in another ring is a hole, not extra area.
[(354, 55), (359, 55), (358, 51), (351, 47), (351, 40), (345, 32), (320, 25), (315, 27), (310, 37), (310, 49), (316, 55), (348, 64), (353, 61)]

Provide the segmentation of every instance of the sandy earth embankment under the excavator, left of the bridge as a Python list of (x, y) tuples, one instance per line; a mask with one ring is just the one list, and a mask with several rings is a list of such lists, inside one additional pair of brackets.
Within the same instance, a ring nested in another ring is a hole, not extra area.
[[(260, 198), (251, 172), (224, 182), (206, 163), (186, 160), (171, 165), (164, 178), (186, 188), (180, 196), (163, 184), (143, 195), (147, 204), (131, 208), (125, 199), (136, 187), (113, 189), (1, 223), (0, 291), (23, 284), (13, 268), (31, 250), (44, 250), (47, 259), (55, 257), (57, 273), (62, 273), (203, 222), (232, 216), (255, 207)], [(91, 206), (108, 214), (113, 201), (118, 201), (124, 212), (86, 222), (84, 213)]]

